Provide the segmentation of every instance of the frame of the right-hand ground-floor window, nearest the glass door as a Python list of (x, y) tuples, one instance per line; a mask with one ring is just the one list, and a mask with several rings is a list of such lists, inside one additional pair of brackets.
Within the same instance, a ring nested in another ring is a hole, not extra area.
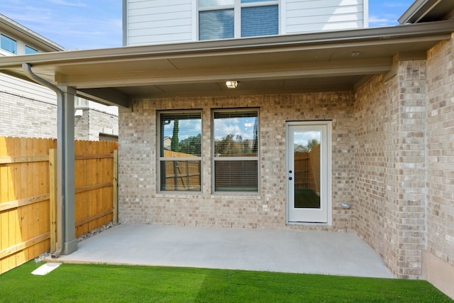
[[(216, 157), (215, 152), (215, 113), (241, 113), (255, 111), (257, 113), (257, 155), (243, 157)], [(255, 191), (240, 191), (240, 190), (216, 190), (216, 161), (256, 161), (257, 162), (257, 190)], [(211, 192), (213, 194), (240, 194), (240, 195), (257, 195), (260, 194), (260, 109), (256, 107), (248, 108), (233, 108), (233, 109), (212, 109), (211, 110)]]

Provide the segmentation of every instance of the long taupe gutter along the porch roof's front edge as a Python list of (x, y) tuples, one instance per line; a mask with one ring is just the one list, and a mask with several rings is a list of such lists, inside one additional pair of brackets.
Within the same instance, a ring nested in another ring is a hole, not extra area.
[(13, 68), (18, 62), (28, 60), (35, 65), (63, 65), (78, 63), (103, 63), (116, 60), (137, 60), (141, 57), (172, 58), (195, 57), (209, 53), (253, 53), (260, 50), (277, 49), (317, 49), (335, 48), (340, 45), (375, 45), (382, 43), (399, 43), (404, 39), (420, 40), (421, 38), (443, 40), (450, 38), (454, 31), (454, 21), (416, 23), (383, 28), (361, 28), (347, 31), (326, 31), (301, 33), (295, 35), (275, 35), (258, 38), (240, 38), (210, 40), (165, 45), (138, 45), (122, 48), (105, 48), (97, 50), (70, 50), (58, 53), (40, 53), (2, 57), (0, 69)]

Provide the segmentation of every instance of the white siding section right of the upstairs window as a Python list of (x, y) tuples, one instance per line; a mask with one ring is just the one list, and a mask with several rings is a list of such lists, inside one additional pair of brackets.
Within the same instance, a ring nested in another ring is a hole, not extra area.
[(364, 1), (367, 0), (283, 0), (282, 33), (336, 31), (367, 27)]

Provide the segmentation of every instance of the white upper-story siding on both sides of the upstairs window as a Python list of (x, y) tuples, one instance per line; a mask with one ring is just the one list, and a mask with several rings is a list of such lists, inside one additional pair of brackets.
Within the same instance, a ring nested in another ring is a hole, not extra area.
[[(196, 0), (125, 0), (126, 45), (197, 39)], [(279, 33), (367, 27), (368, 0), (280, 0)]]

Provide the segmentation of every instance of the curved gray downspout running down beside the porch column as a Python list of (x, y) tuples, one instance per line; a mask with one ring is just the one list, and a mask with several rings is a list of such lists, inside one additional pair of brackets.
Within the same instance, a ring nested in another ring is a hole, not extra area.
[[(63, 94), (62, 90), (57, 87), (56, 85), (46, 81), (45, 79), (41, 78), (41, 77), (38, 77), (38, 75), (35, 75), (33, 73), (33, 71), (31, 70), (31, 65), (29, 63), (22, 63), (22, 69), (23, 69), (23, 72), (26, 74), (26, 76), (30, 79), (32, 79), (33, 81), (37, 82), (38, 84), (41, 84), (43, 85), (44, 87), (48, 87), (49, 89), (52, 89), (52, 91), (54, 91), (56, 94), (57, 94), (57, 111), (58, 111), (58, 116), (63, 116), (62, 114), (62, 106), (61, 104), (63, 104), (63, 101), (64, 98), (65, 98), (65, 95)], [(61, 134), (57, 134), (57, 138), (60, 139), (60, 141), (63, 141), (61, 138), (61, 136), (65, 136), (64, 134), (65, 132), (61, 132)], [(60, 136), (59, 136), (60, 135)], [(57, 162), (59, 163), (57, 165), (57, 167), (62, 167), (62, 164), (64, 161), (62, 161), (61, 157), (58, 157), (57, 159)], [(64, 182), (64, 178), (62, 177), (62, 174), (61, 173), (58, 173), (57, 172), (57, 176), (58, 176), (58, 181), (59, 183), (61, 182)], [(64, 187), (58, 187), (58, 188), (64, 188)], [(64, 248), (64, 243), (65, 243), (65, 238), (66, 238), (66, 235), (65, 235), (65, 204), (63, 203), (64, 201), (64, 198), (62, 197), (62, 189), (60, 189), (59, 191), (59, 194), (57, 194), (57, 199), (60, 200), (60, 204), (61, 204), (61, 214), (60, 214), (60, 217), (61, 217), (61, 222), (60, 222), (60, 228), (61, 228), (61, 232), (62, 232), (62, 236), (61, 236), (61, 239), (60, 239), (60, 248), (55, 251), (54, 253), (52, 253), (52, 258), (58, 258), (60, 257), (60, 255), (62, 254), (63, 252), (63, 248)]]

